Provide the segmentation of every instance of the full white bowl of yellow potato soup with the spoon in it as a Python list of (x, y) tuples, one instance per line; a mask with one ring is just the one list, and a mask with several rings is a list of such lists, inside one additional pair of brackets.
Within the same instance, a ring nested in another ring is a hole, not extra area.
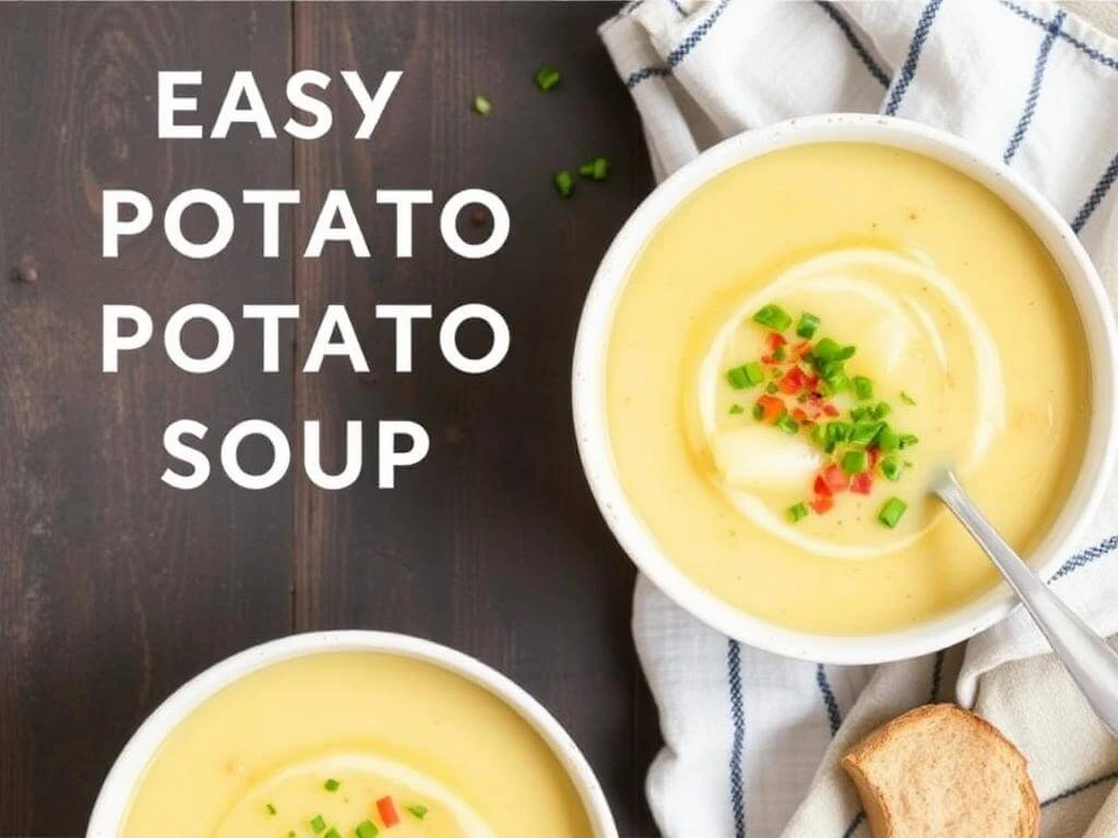
[(1114, 316), (1012, 170), (881, 116), (727, 140), (614, 240), (574, 363), (579, 453), (671, 599), (781, 655), (945, 648), (1015, 604), (944, 468), (1042, 574), (1115, 463)]

